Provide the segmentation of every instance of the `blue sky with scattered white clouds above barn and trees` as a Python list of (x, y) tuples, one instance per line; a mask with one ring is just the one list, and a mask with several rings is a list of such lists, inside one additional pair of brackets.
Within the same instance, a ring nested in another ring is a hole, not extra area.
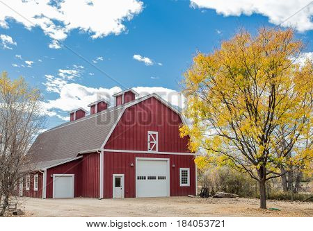
[(160, 92), (182, 106), (179, 82), (193, 55), (218, 48), (239, 27), (256, 33), (283, 22), (312, 51), (313, 3), (284, 22), (310, 3), (305, 0), (32, 2), (0, 2), (0, 70), (42, 90), (48, 128), (65, 122), (67, 111), (127, 87)]

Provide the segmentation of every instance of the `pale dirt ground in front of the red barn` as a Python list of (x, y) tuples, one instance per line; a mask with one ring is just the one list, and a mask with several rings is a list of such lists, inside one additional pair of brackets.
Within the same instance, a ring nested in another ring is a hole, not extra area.
[(313, 203), (249, 198), (123, 198), (38, 199), (19, 198), (25, 216), (313, 216)]

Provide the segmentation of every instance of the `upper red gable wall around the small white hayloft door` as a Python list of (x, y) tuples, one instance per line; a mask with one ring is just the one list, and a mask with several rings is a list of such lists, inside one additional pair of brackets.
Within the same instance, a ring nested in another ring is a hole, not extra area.
[(104, 148), (147, 151), (147, 132), (156, 131), (159, 151), (190, 153), (188, 137), (179, 137), (181, 125), (179, 114), (152, 97), (125, 110)]

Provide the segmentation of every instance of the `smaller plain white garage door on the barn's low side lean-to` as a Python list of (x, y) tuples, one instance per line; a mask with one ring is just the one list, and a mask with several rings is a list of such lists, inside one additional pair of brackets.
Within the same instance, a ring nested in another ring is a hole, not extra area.
[(74, 174), (54, 174), (54, 198), (74, 198)]

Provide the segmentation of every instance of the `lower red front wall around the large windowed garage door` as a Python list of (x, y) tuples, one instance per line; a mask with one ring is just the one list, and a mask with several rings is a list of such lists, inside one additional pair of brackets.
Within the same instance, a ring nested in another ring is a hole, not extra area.
[[(170, 159), (170, 196), (195, 195), (193, 155), (104, 153), (104, 198), (112, 198), (113, 174), (125, 174), (125, 197), (136, 197), (136, 157)], [(130, 166), (131, 163), (134, 166)], [(175, 167), (172, 167), (175, 164)], [(190, 168), (190, 186), (179, 186), (179, 168)]]

